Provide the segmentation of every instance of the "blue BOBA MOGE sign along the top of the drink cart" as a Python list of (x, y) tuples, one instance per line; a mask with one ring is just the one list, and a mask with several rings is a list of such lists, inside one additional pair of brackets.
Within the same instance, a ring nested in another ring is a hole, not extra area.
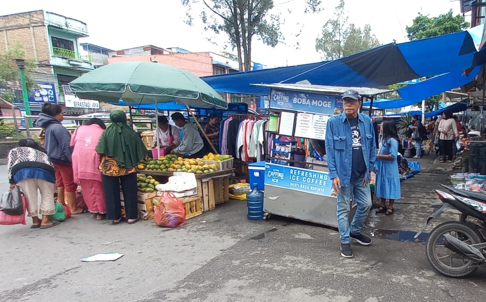
[(270, 108), (334, 115), (342, 112), (340, 95), (271, 90)]

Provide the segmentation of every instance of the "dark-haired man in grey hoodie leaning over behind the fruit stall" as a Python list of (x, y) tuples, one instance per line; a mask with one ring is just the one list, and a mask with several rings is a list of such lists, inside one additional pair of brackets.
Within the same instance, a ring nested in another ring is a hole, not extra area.
[(204, 156), (204, 143), (196, 125), (186, 122), (185, 117), (180, 112), (171, 114), (171, 117), (177, 127), (182, 128), (182, 141), (171, 153), (186, 158), (202, 158)]

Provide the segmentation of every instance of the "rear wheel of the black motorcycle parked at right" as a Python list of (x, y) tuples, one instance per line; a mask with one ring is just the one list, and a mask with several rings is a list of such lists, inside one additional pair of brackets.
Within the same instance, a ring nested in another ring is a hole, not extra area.
[(472, 274), (477, 263), (459, 255), (443, 245), (442, 235), (451, 236), (467, 243), (478, 244), (482, 242), (481, 235), (470, 222), (447, 221), (437, 225), (430, 233), (426, 243), (426, 254), (432, 267), (444, 276), (452, 278), (466, 277)]

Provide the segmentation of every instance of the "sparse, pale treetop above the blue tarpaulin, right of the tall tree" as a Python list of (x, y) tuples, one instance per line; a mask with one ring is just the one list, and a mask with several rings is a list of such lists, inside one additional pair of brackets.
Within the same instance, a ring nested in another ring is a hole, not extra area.
[(336, 7), (334, 16), (334, 19), (327, 20), (321, 36), (316, 38), (316, 51), (323, 54), (323, 59), (335, 60), (380, 46), (369, 24), (363, 30), (353, 23), (349, 24), (343, 0)]

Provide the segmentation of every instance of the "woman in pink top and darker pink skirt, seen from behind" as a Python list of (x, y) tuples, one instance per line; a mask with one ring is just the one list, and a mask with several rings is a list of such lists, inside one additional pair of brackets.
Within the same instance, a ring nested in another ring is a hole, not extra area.
[(106, 129), (99, 118), (86, 120), (71, 136), (74, 181), (81, 185), (88, 210), (97, 220), (105, 219), (106, 204), (96, 146)]

